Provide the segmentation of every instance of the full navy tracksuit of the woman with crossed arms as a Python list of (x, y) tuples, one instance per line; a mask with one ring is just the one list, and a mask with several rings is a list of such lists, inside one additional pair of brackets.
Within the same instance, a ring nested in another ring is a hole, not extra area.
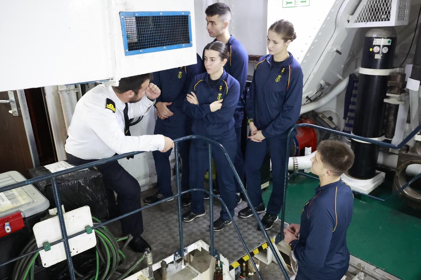
[[(235, 157), (237, 139), (234, 130), (234, 111), (240, 96), (240, 85), (231, 75), (224, 73), (215, 86), (209, 86), (209, 74), (195, 77), (188, 92), (195, 92), (199, 105), (184, 100), (184, 111), (193, 118), (192, 132), (220, 143), (226, 149), (229, 158)], [(222, 108), (211, 112), (210, 103), (221, 100)], [(224, 152), (212, 145), (212, 156), (220, 182), (221, 198), (234, 216), (235, 182), (232, 170)], [(203, 140), (192, 140), (190, 147), (190, 188), (203, 188), (203, 176), (209, 167), (208, 144)], [(203, 192), (192, 192), (190, 210), (195, 214), (205, 212)], [(223, 208), (222, 219), (229, 219)]]

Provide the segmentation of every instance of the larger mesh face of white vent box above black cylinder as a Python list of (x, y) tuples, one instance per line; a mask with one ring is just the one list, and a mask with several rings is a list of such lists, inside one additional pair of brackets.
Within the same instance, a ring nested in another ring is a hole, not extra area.
[(368, 0), (354, 22), (389, 21), (391, 8), (392, 0)]

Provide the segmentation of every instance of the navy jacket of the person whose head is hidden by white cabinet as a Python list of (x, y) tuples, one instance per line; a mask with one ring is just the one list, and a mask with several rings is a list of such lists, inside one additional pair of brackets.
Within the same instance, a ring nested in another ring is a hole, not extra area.
[(183, 110), (183, 102), (186, 99), (187, 89), (195, 76), (206, 71), (203, 61), (197, 53), (196, 58), (196, 64), (154, 73), (154, 79), (151, 82), (161, 90), (161, 95), (157, 98), (156, 103), (172, 102), (168, 106), (168, 109), (174, 113), (173, 116), (163, 120), (158, 118), (157, 122), (182, 122), (188, 118)]

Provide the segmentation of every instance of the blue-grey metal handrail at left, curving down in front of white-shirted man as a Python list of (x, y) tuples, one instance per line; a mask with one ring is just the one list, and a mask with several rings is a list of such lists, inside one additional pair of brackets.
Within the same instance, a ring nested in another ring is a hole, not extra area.
[[(204, 189), (191, 189), (191, 190), (186, 190), (184, 192), (181, 192), (180, 173), (179, 173), (179, 160), (178, 160), (178, 158), (179, 158), (178, 143), (179, 142), (182, 142), (182, 141), (185, 141), (185, 140), (191, 140), (191, 139), (201, 139), (201, 140), (204, 140), (204, 141), (206, 141), (208, 143), (209, 174), (210, 174), (210, 176), (209, 176), (209, 191), (208, 190), (204, 190)], [(175, 158), (176, 158), (176, 186), (177, 186), (177, 194), (176, 195), (173, 195), (171, 197), (165, 198), (165, 199), (163, 199), (161, 201), (157, 201), (156, 203), (152, 203), (150, 205), (147, 205), (147, 206), (141, 207), (139, 209), (133, 210), (133, 211), (131, 211), (129, 213), (126, 213), (124, 215), (121, 215), (120, 217), (116, 217), (116, 218), (110, 219), (110, 220), (108, 220), (106, 222), (101, 222), (99, 224), (96, 224), (96, 225), (94, 225), (92, 227), (92, 229), (96, 229), (98, 227), (101, 227), (101, 226), (104, 226), (104, 225), (108, 225), (111, 222), (115, 222), (115, 221), (117, 221), (119, 219), (125, 218), (127, 216), (130, 216), (132, 214), (135, 214), (135, 213), (137, 213), (139, 211), (142, 211), (142, 210), (147, 209), (149, 207), (152, 207), (154, 205), (157, 205), (157, 204), (160, 204), (160, 203), (164, 203), (164, 202), (169, 201), (169, 200), (171, 200), (173, 198), (177, 198), (178, 215), (179, 215), (180, 250), (176, 254), (179, 254), (179, 256), (183, 257), (184, 256), (184, 243), (183, 243), (184, 242), (184, 239), (183, 239), (183, 222), (182, 222), (182, 213), (181, 213), (181, 209), (182, 209), (182, 207), (181, 207), (181, 195), (183, 195), (185, 193), (192, 192), (192, 191), (203, 191), (205, 193), (209, 193), (209, 196), (210, 197), (214, 197), (214, 198), (218, 199), (219, 202), (221, 203), (221, 205), (225, 208), (225, 210), (227, 211), (227, 213), (229, 215), (229, 218), (232, 221), (232, 224), (234, 225), (234, 228), (235, 228), (238, 236), (240, 237), (240, 240), (241, 240), (242, 245), (244, 246), (244, 248), (247, 251), (248, 256), (250, 257), (250, 260), (251, 260), (251, 262), (253, 264), (253, 267), (256, 269), (256, 273), (258, 274), (259, 279), (262, 279), (261, 278), (261, 274), (258, 271), (258, 268), (256, 267), (256, 263), (254, 262), (253, 257), (250, 255), (250, 251), (249, 251), (247, 245), (245, 244), (244, 238), (242, 238), (242, 235), (240, 233), (240, 230), (237, 227), (237, 224), (234, 221), (234, 218), (229, 213), (228, 207), (226, 206), (226, 204), (224, 203), (224, 201), (222, 200), (222, 198), (220, 198), (220, 197), (218, 197), (218, 196), (216, 196), (216, 195), (213, 194), (213, 186), (212, 186), (212, 176), (211, 176), (211, 174), (212, 174), (212, 145), (214, 145), (214, 146), (220, 148), (224, 152), (224, 154), (225, 154), (225, 156), (226, 156), (226, 158), (228, 160), (229, 166), (231, 167), (232, 171), (235, 174), (235, 179), (240, 184), (240, 187), (242, 189), (242, 192), (244, 193), (245, 200), (247, 201), (248, 205), (250, 205), (250, 208), (253, 211), (253, 216), (256, 218), (256, 220), (258, 222), (258, 225), (259, 225), (259, 227), (260, 227), (260, 229), (261, 229), (261, 231), (262, 231), (262, 233), (263, 233), (263, 235), (264, 235), (264, 237), (266, 239), (266, 242), (267, 242), (269, 248), (271, 249), (272, 254), (274, 255), (274, 258), (276, 259), (277, 264), (279, 265), (280, 269), (282, 270), (282, 274), (284, 275), (285, 279), (289, 280), (290, 278), (288, 277), (288, 274), (285, 271), (285, 268), (282, 266), (282, 263), (280, 261), (280, 258), (279, 258), (278, 254), (276, 252), (276, 249), (274, 248), (274, 245), (271, 242), (271, 240), (269, 238), (269, 235), (267, 234), (266, 230), (264, 229), (264, 226), (263, 226), (263, 224), (261, 222), (261, 219), (259, 218), (259, 216), (258, 216), (258, 214), (256, 212), (256, 209), (254, 209), (254, 206), (253, 206), (253, 204), (250, 201), (250, 198), (248, 196), (248, 193), (245, 190), (244, 185), (242, 184), (242, 181), (241, 181), (239, 175), (237, 174), (237, 172), (235, 170), (234, 164), (232, 164), (232, 161), (229, 158), (228, 153), (226, 152), (225, 148), (220, 143), (218, 143), (216, 141), (213, 141), (213, 140), (210, 140), (210, 139), (208, 139), (206, 137), (203, 137), (203, 136), (200, 136), (200, 135), (190, 135), (190, 136), (186, 136), (186, 137), (181, 137), (179, 139), (174, 140), (174, 143), (175, 143), (174, 153), (175, 153)], [(52, 185), (52, 188), (53, 188), (54, 201), (56, 203), (57, 215), (59, 217), (59, 224), (60, 224), (60, 230), (61, 230), (61, 236), (62, 236), (62, 238), (60, 240), (56, 240), (56, 241), (52, 242), (51, 243), (51, 246), (56, 245), (56, 244), (61, 243), (61, 242), (64, 243), (64, 248), (65, 248), (65, 252), (66, 252), (67, 265), (68, 265), (68, 268), (69, 268), (70, 278), (72, 280), (75, 280), (76, 279), (76, 277), (75, 277), (75, 270), (74, 270), (74, 267), (73, 267), (73, 261), (72, 261), (72, 257), (71, 257), (71, 254), (70, 254), (69, 239), (70, 238), (73, 238), (73, 237), (75, 237), (77, 235), (83, 234), (86, 231), (80, 231), (80, 232), (77, 232), (77, 233), (72, 234), (72, 235), (69, 235), (69, 236), (67, 235), (67, 233), (66, 233), (66, 226), (64, 224), (63, 211), (61, 209), (61, 198), (60, 198), (60, 194), (59, 194), (59, 188), (58, 188), (58, 185), (57, 185), (57, 177), (58, 176), (61, 176), (61, 175), (64, 175), (64, 174), (68, 174), (68, 173), (72, 173), (72, 172), (75, 172), (75, 171), (79, 171), (79, 170), (82, 170), (82, 169), (92, 168), (94, 166), (98, 166), (100, 164), (104, 164), (104, 163), (107, 163), (107, 162), (116, 161), (117, 159), (120, 159), (120, 158), (125, 158), (125, 157), (128, 157), (128, 156), (134, 156), (134, 155), (139, 154), (139, 153), (143, 153), (143, 152), (124, 153), (124, 154), (121, 154), (121, 155), (118, 155), (118, 156), (113, 156), (113, 157), (110, 157), (110, 158), (100, 159), (98, 161), (93, 161), (93, 162), (88, 163), (88, 164), (83, 164), (83, 165), (80, 165), (80, 166), (75, 166), (75, 167), (72, 167), (72, 168), (69, 168), (69, 169), (65, 169), (65, 170), (61, 170), (61, 171), (58, 171), (58, 172), (54, 172), (54, 173), (51, 173), (51, 174), (45, 174), (45, 175), (42, 175), (42, 176), (39, 176), (39, 177), (36, 177), (36, 178), (32, 178), (32, 179), (29, 179), (29, 180), (25, 180), (25, 181), (22, 181), (22, 182), (16, 182), (16, 183), (13, 183), (13, 184), (6, 185), (4, 187), (1, 187), (0, 188), (0, 192), (4, 192), (4, 191), (11, 190), (11, 189), (14, 189), (14, 188), (19, 188), (19, 187), (22, 187), (22, 186), (25, 186), (25, 185), (29, 185), (29, 184), (33, 184), (33, 183), (36, 183), (36, 182), (40, 182), (40, 181), (43, 181), (43, 180), (48, 180), (48, 179), (51, 180), (51, 185)], [(210, 211), (210, 214), (209, 214), (210, 217), (209, 217), (209, 219), (210, 219), (210, 225), (213, 225), (213, 199), (210, 199), (209, 202), (210, 202), (209, 203), (209, 211)], [(213, 233), (213, 230), (210, 229), (210, 246), (209, 246), (210, 254), (212, 256), (216, 257), (217, 259), (219, 259), (219, 253), (214, 248), (214, 236), (213, 236), (213, 234), (214, 234)], [(7, 262), (4, 262), (4, 263), (0, 264), (0, 267), (2, 267), (5, 264), (9, 264), (11, 262), (15, 262), (16, 260), (21, 259), (21, 258), (23, 258), (25, 256), (29, 256), (31, 254), (35, 254), (35, 253), (37, 253), (37, 252), (39, 252), (39, 251), (41, 251), (43, 249), (44, 248), (37, 248), (36, 250), (33, 250), (32, 252), (29, 252), (29, 253), (24, 254), (22, 256), (18, 256), (16, 258), (13, 258), (13, 259), (11, 259), (11, 260), (9, 260)]]

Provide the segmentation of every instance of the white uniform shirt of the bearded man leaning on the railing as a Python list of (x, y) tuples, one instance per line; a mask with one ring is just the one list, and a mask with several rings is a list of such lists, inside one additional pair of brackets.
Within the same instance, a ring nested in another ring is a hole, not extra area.
[[(124, 135), (125, 103), (117, 94), (110, 85), (98, 85), (80, 98), (64, 145), (67, 153), (82, 159), (101, 159), (115, 153), (163, 150), (163, 135)], [(107, 108), (107, 98), (114, 101), (115, 111)], [(154, 103), (146, 95), (139, 102), (128, 103), (129, 119), (146, 115)]]

